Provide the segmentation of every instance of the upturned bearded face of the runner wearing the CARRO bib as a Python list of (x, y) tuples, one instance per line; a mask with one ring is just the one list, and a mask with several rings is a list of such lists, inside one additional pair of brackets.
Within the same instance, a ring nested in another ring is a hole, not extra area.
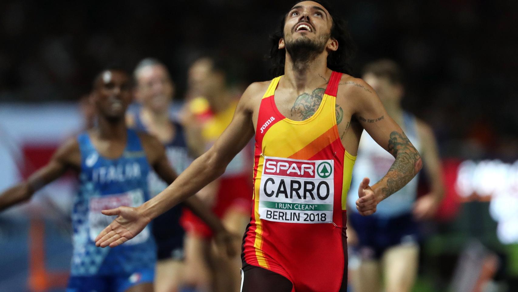
[(332, 25), (329, 12), (322, 5), (313, 1), (297, 3), (286, 15), (285, 40), (281, 40), (280, 48), (284, 47), (283, 41), (329, 42)]

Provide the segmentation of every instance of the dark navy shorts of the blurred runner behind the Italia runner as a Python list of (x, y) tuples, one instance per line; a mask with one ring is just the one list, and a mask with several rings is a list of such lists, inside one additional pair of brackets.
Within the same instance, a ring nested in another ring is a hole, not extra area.
[(183, 240), (185, 231), (179, 224), (182, 206), (174, 206), (171, 210), (153, 220), (153, 236), (156, 241), (158, 260), (183, 260)]

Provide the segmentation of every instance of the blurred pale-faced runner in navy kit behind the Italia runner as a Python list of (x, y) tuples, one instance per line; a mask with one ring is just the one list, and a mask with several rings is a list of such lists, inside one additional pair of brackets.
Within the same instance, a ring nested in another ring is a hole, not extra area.
[[(148, 58), (140, 61), (133, 75), (138, 105), (131, 107), (126, 114), (128, 127), (158, 138), (175, 172), (181, 173), (192, 159), (183, 126), (170, 117), (174, 84), (169, 72), (160, 61)], [(151, 197), (154, 197), (167, 184), (151, 172), (149, 186)], [(178, 205), (153, 220), (153, 235), (158, 249), (155, 292), (175, 292), (182, 286), (185, 232), (179, 223), (181, 214), (182, 206)]]

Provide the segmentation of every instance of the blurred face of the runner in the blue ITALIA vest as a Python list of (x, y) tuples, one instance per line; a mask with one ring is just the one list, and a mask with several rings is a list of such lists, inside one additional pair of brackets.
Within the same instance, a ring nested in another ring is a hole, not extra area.
[(130, 78), (123, 71), (103, 72), (96, 82), (93, 99), (99, 115), (123, 118), (131, 102)]

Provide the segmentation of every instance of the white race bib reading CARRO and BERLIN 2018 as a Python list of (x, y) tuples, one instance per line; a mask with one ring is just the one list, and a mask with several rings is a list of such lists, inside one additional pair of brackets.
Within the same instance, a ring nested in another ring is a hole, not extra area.
[(334, 161), (265, 156), (259, 216), (285, 223), (332, 223)]

